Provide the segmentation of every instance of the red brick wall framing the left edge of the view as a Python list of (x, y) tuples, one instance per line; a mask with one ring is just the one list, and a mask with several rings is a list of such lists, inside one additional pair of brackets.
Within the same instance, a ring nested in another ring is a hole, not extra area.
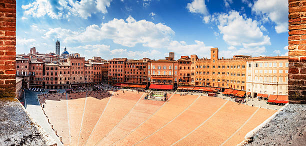
[(16, 0), (0, 0), (0, 97), (15, 97)]

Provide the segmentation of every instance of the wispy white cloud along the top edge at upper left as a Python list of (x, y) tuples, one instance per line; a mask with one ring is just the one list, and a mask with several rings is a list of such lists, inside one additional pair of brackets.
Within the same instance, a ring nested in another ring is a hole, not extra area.
[(35, 0), (22, 5), (25, 15), (49, 16), (53, 19), (68, 18), (70, 15), (87, 18), (92, 13), (107, 13), (111, 0)]

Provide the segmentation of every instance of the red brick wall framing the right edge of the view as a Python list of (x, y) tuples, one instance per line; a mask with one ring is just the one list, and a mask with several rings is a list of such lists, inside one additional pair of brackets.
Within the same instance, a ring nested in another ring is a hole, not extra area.
[(289, 102), (306, 103), (306, 0), (288, 2)]

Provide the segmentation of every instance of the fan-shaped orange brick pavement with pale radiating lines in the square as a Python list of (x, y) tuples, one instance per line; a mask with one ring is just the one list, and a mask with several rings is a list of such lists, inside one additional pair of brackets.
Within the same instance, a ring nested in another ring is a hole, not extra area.
[(40, 99), (64, 145), (236, 145), (276, 110), (217, 97), (91, 91)]

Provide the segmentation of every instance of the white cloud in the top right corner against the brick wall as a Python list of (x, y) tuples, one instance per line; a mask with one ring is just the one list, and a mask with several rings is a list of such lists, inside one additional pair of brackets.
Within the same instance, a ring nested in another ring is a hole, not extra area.
[(273, 21), (277, 33), (288, 31), (288, 0), (257, 0), (252, 11), (265, 21)]

